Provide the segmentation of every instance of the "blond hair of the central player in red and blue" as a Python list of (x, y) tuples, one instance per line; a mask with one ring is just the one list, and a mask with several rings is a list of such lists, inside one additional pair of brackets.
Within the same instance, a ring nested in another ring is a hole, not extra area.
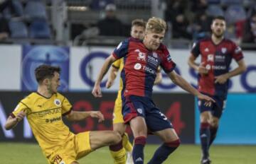
[(167, 28), (166, 22), (161, 18), (152, 17), (146, 23), (146, 33), (148, 31), (152, 33), (162, 33), (165, 32)]

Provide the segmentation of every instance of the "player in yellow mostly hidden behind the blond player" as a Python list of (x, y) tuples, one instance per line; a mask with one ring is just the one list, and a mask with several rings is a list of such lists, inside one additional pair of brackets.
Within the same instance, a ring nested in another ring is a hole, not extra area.
[[(145, 28), (146, 23), (142, 19), (134, 19), (132, 21), (132, 29), (131, 29), (131, 36), (138, 39), (143, 40), (145, 35)], [(106, 87), (110, 88), (113, 83), (114, 79), (117, 77), (118, 71), (122, 71), (124, 67), (123, 59), (118, 59), (114, 61), (112, 64), (112, 68), (110, 69), (110, 76), (107, 79)], [(158, 70), (156, 74), (156, 80), (154, 84), (158, 84), (161, 82), (161, 71)], [(125, 153), (127, 151), (127, 164), (132, 163), (132, 144), (129, 142), (129, 137), (125, 133), (126, 125), (124, 124), (124, 119), (122, 117), (122, 78), (120, 78), (119, 82), (119, 90), (117, 94), (117, 99), (114, 102), (114, 112), (113, 112), (113, 129), (114, 131), (119, 132), (122, 136), (122, 143), (117, 145), (110, 146), (110, 152), (112, 154), (112, 158), (114, 158), (115, 164), (124, 164), (125, 163)], [(122, 144), (122, 146), (120, 146)]]

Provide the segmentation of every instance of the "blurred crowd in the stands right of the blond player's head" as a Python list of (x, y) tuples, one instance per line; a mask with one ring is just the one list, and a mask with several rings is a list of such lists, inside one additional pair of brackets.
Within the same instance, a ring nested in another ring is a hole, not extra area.
[(235, 42), (256, 42), (256, 3), (242, 0), (166, 0), (165, 20), (173, 38), (198, 40), (210, 35), (214, 16), (225, 16), (225, 36)]

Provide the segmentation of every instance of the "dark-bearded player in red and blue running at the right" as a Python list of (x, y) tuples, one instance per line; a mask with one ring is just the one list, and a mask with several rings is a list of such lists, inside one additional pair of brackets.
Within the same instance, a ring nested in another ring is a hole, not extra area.
[[(196, 42), (191, 50), (188, 65), (198, 71), (198, 90), (215, 100), (206, 106), (205, 100), (198, 100), (200, 115), (200, 138), (202, 148), (202, 164), (210, 163), (209, 148), (215, 139), (219, 119), (225, 107), (228, 94), (228, 79), (245, 71), (243, 54), (237, 45), (224, 38), (225, 18), (217, 16), (211, 24), (210, 38)], [(196, 64), (196, 58), (201, 55), (201, 64)], [(238, 67), (229, 71), (232, 59)]]

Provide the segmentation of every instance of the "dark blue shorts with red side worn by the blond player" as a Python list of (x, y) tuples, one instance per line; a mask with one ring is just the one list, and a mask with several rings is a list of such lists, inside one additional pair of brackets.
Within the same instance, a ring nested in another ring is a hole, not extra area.
[(152, 132), (173, 128), (171, 122), (160, 112), (151, 98), (137, 95), (127, 96), (123, 102), (122, 115), (125, 124), (134, 117), (144, 117), (147, 128)]

